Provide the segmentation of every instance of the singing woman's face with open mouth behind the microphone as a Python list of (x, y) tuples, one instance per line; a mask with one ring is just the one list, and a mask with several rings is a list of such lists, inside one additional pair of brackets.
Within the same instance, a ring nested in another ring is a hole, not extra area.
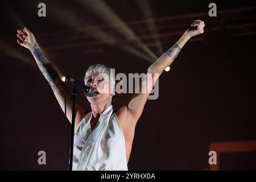
[(113, 93), (111, 93), (111, 82), (109, 76), (106, 73), (99, 73), (93, 75), (93, 73), (86, 75), (85, 85), (90, 86), (97, 91), (98, 94), (95, 94), (93, 97), (87, 97), (90, 103), (100, 103), (112, 100)]

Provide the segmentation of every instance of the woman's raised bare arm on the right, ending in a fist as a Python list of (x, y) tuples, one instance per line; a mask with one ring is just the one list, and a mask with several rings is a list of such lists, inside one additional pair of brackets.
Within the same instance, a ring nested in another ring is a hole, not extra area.
[[(192, 37), (199, 34), (203, 34), (204, 32), (204, 22), (201, 20), (195, 20), (191, 24), (191, 28), (186, 30), (181, 38), (172, 46), (166, 53), (159, 57), (158, 60), (155, 61), (148, 69), (147, 73), (151, 75), (152, 85), (149, 86), (150, 89), (147, 90), (147, 93), (142, 93), (142, 85), (145, 85), (147, 82), (146, 76), (142, 78), (142, 82), (139, 86), (139, 93), (133, 94), (131, 100), (127, 104), (121, 108), (121, 110), (125, 110), (126, 113), (126, 121), (128, 126), (135, 126), (139, 117), (141, 117), (142, 111), (144, 109), (144, 105), (146, 104), (147, 98), (156, 82), (158, 77), (164, 71), (166, 67), (168, 67), (177, 57), (181, 48), (183, 48), (184, 44)], [(195, 28), (193, 28), (195, 27)]]

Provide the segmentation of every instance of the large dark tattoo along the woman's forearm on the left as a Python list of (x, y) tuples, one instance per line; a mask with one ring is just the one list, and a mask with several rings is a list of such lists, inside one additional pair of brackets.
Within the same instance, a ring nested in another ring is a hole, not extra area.
[(49, 61), (47, 60), (46, 56), (43, 54), (38, 44), (35, 44), (35, 46), (33, 47), (32, 55), (34, 56), (40, 71), (43, 73), (44, 77), (46, 77), (46, 80), (49, 82), (49, 85), (51, 85), (53, 92), (55, 92), (54, 81), (59, 80), (59, 75), (57, 75), (57, 72), (49, 63)]

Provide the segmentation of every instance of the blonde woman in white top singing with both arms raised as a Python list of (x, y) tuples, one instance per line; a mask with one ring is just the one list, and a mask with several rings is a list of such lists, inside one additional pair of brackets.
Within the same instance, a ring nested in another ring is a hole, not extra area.
[[(177, 57), (184, 44), (193, 36), (203, 34), (204, 22), (195, 20), (191, 27), (166, 53), (159, 57), (147, 69), (152, 81), (146, 93), (134, 93), (127, 105), (114, 112), (112, 101), (115, 96), (115, 80), (110, 76), (106, 65), (92, 65), (84, 77), (84, 84), (97, 91), (93, 97), (87, 97), (92, 111), (77, 104), (75, 117), (75, 138), (73, 151), (73, 170), (127, 170), (135, 126), (141, 117), (144, 105), (158, 76)], [(20, 46), (29, 49), (40, 71), (51, 85), (60, 107), (64, 110), (64, 84), (51, 63), (36, 43), (35, 36), (26, 27), (18, 30)], [(141, 90), (142, 79), (138, 86)], [(72, 121), (71, 94), (67, 94), (67, 118)]]

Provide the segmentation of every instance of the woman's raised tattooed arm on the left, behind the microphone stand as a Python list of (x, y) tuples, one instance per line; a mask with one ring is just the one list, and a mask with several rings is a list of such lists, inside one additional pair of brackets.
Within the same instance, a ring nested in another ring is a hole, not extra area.
[[(35, 36), (32, 34), (30, 30), (28, 30), (26, 27), (23, 30), (18, 30), (17, 36), (19, 39), (17, 39), (17, 42), (20, 44), (20, 46), (26, 47), (29, 49), (34, 56), (34, 59), (36, 61), (36, 64), (38, 64), (38, 67), (40, 71), (43, 73), (43, 76), (48, 81), (49, 85), (52, 88), (52, 91), (59, 102), (59, 105), (63, 112), (65, 111), (64, 107), (64, 84), (61, 82), (59, 75), (57, 74), (55, 68), (52, 66), (51, 63), (49, 63), (47, 57), (42, 52), (42, 49), (40, 49), (38, 43), (36, 43)], [(69, 122), (72, 121), (72, 96), (70, 93), (68, 93), (68, 90), (66, 90), (66, 101), (67, 101), (67, 118)], [(85, 110), (82, 108), (81, 105), (76, 105), (76, 119), (75, 119), (75, 129), (81, 119), (85, 116)]]

